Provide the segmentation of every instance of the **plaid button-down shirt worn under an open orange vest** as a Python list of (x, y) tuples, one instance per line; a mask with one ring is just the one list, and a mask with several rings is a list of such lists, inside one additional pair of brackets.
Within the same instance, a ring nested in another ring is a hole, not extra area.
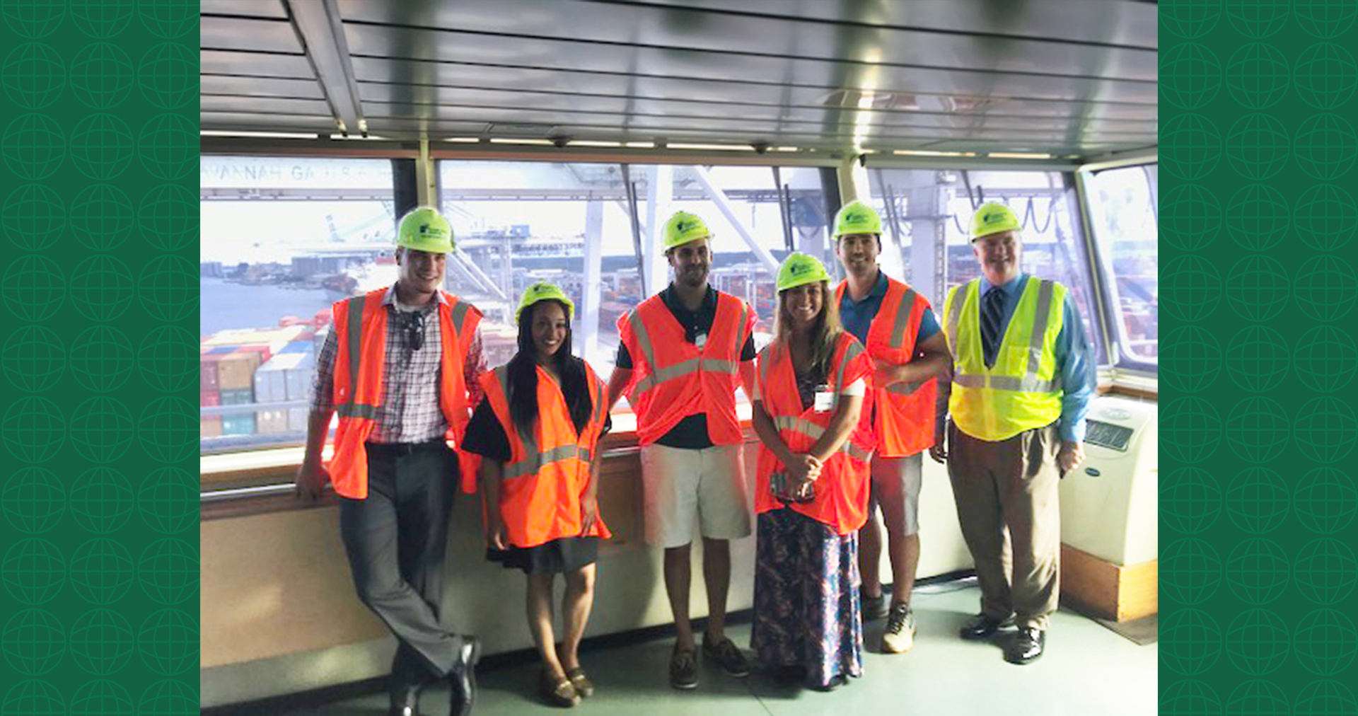
[[(443, 293), (435, 293), (439, 303), (447, 303)], [(387, 355), (382, 370), (382, 398), (369, 443), (424, 443), (439, 440), (448, 431), (448, 421), (439, 408), (439, 380), (443, 363), (441, 326), (435, 304), (417, 311), (397, 307), (395, 287), (382, 298), (387, 310)], [(414, 336), (424, 333), (422, 346), (414, 351)], [(338, 332), (331, 330), (316, 356), (316, 376), (312, 384), (311, 410), (334, 410), (334, 370), (340, 352)], [(486, 357), (481, 349), (481, 329), (477, 329), (467, 356), (462, 363), (463, 380), (470, 395), (467, 405), (481, 402), (481, 380), (486, 371)]]

